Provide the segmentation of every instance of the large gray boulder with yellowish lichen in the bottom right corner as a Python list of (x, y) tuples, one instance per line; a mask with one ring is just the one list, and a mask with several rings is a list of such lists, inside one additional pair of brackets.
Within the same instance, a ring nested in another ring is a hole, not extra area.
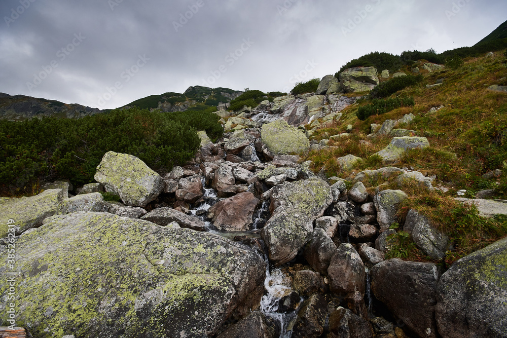
[(438, 285), (436, 318), (447, 337), (507, 336), (507, 238), (457, 260)]

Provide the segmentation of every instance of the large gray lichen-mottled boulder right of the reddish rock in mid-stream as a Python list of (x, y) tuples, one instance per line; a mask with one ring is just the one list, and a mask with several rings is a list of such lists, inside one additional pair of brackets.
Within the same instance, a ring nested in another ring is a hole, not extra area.
[(273, 214), (261, 232), (269, 259), (280, 265), (296, 257), (312, 239), (313, 221), (332, 201), (328, 183), (316, 177), (274, 187), (270, 205)]

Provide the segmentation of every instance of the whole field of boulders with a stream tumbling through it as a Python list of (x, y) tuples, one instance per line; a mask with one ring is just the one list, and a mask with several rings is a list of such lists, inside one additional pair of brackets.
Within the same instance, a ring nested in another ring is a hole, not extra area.
[[(375, 77), (368, 69), (328, 76), (315, 95), (250, 110), (215, 144), (200, 132), (195, 159), (167, 173), (110, 152), (96, 183), (74, 190), (54, 182), (39, 195), (1, 198), (0, 259), (11, 259), (15, 245), (15, 264), (0, 266), (0, 320), (9, 323), (15, 292), (16, 324), (34, 337), (507, 336), (505, 239), (447, 271), (385, 259), (408, 198), (403, 183), (438, 189), (431, 177), (395, 167), (407, 149), (428, 145), (391, 134), (413, 117), (372, 128), (371, 137), (392, 137), (379, 154), (390, 167), (343, 180), (301, 161), (326, 145), (312, 144), (299, 124), (315, 114), (319, 125), (339, 119), (347, 98), (332, 92), (369, 87)], [(399, 189), (365, 186), (386, 179)], [(103, 191), (121, 202), (104, 201)], [(415, 210), (399, 230), (436, 260), (452, 247)]]

